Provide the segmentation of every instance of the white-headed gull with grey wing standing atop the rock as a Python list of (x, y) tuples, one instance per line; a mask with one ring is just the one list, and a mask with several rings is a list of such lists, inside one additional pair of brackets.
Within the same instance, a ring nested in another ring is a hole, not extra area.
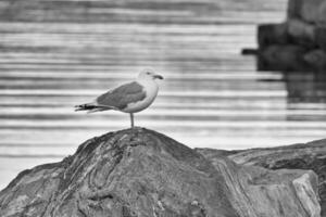
[(99, 95), (93, 102), (75, 106), (75, 111), (88, 113), (115, 110), (130, 114), (130, 124), (134, 128), (134, 113), (140, 112), (155, 100), (159, 91), (156, 79), (163, 79), (153, 69), (143, 69), (136, 80), (123, 84)]

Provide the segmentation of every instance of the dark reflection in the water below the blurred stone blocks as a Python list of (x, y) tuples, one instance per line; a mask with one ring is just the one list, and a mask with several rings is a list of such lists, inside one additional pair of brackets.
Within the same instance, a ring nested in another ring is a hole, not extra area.
[[(264, 80), (275, 82), (275, 80)], [(321, 138), (325, 133), (322, 125), (326, 120), (326, 76), (324, 72), (285, 72), (281, 81), (287, 91), (288, 122), (297, 122), (303, 128), (308, 123), (315, 125), (313, 131), (306, 130), (310, 136), (315, 135), (319, 126)]]

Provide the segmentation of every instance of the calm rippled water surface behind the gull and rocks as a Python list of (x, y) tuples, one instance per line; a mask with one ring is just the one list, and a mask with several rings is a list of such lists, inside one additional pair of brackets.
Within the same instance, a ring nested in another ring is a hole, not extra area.
[(2, 1), (0, 188), (23, 168), (129, 127), (126, 114), (73, 106), (143, 66), (165, 80), (137, 126), (216, 149), (325, 138), (325, 76), (256, 72), (255, 59), (240, 54), (256, 47), (258, 24), (285, 17), (285, 0), (264, 1)]

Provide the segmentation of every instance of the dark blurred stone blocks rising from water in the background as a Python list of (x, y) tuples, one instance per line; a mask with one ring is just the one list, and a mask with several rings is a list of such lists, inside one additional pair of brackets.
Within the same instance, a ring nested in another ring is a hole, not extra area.
[(289, 0), (284, 23), (259, 26), (259, 69), (325, 71), (325, 14), (326, 0)]

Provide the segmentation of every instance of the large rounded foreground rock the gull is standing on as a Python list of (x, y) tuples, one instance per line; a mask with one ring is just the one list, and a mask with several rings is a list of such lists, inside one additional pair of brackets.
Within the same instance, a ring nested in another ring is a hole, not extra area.
[(312, 170), (238, 165), (135, 128), (21, 173), (0, 216), (318, 217), (316, 188)]

